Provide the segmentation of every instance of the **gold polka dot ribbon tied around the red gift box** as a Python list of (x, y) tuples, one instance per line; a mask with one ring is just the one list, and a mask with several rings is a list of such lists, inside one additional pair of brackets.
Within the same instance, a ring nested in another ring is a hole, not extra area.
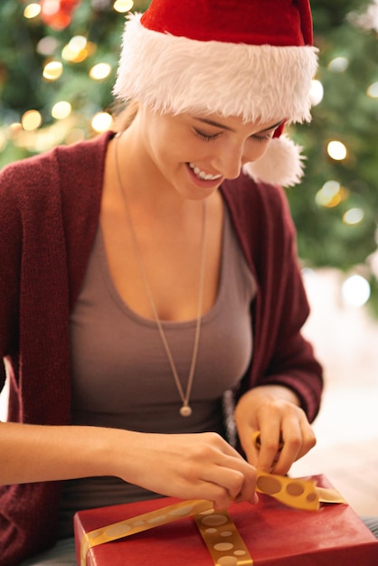
[[(285, 505), (312, 511), (316, 511), (320, 503), (345, 503), (345, 499), (334, 489), (317, 487), (314, 479), (295, 479), (259, 470), (256, 491), (271, 495)], [(194, 516), (216, 566), (253, 564), (250, 553), (227, 511), (215, 512), (212, 502), (195, 499), (84, 533), (80, 545), (80, 566), (86, 566), (87, 553), (94, 546), (191, 516)]]

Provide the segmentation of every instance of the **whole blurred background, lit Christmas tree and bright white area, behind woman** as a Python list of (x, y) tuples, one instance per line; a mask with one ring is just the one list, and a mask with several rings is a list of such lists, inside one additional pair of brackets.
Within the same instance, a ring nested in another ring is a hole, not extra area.
[[(1, 0), (0, 168), (111, 127), (125, 15), (148, 5)], [(290, 127), (307, 160), (288, 200), (326, 391), (317, 447), (292, 471), (326, 473), (358, 513), (378, 515), (378, 4), (312, 9), (313, 121)]]

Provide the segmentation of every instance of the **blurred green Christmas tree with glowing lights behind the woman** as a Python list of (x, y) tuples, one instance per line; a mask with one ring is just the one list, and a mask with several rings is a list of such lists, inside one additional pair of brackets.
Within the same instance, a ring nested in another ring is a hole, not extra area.
[[(0, 166), (111, 127), (125, 14), (148, 1), (2, 0)], [(288, 189), (308, 267), (358, 273), (378, 316), (378, 5), (312, 3), (320, 50), (311, 125), (290, 127), (306, 176)]]

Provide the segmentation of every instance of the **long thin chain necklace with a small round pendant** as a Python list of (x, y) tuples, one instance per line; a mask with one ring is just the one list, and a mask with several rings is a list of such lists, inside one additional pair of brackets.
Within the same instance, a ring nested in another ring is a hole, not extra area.
[(116, 174), (117, 174), (117, 179), (118, 179), (118, 187), (119, 187), (119, 191), (122, 195), (123, 203), (125, 205), (125, 211), (126, 211), (126, 215), (127, 215), (127, 218), (128, 218), (128, 228), (129, 228), (129, 231), (130, 231), (130, 234), (131, 234), (131, 240), (132, 240), (133, 248), (134, 248), (134, 251), (135, 251), (136, 258), (137, 258), (138, 268), (139, 268), (139, 271), (140, 271), (140, 274), (142, 276), (143, 283), (144, 283), (144, 286), (145, 286), (146, 296), (148, 298), (148, 302), (150, 304), (152, 313), (154, 315), (156, 325), (157, 325), (157, 329), (159, 331), (159, 335), (160, 335), (161, 340), (163, 342), (163, 345), (165, 347), (165, 354), (168, 358), (168, 362), (169, 362), (172, 374), (173, 374), (174, 379), (175, 379), (175, 385), (176, 385), (177, 391), (178, 391), (178, 393), (180, 395), (180, 399), (182, 401), (182, 406), (180, 408), (180, 415), (182, 417), (190, 417), (190, 415), (192, 414), (192, 408), (189, 405), (189, 399), (190, 399), (190, 394), (191, 394), (191, 391), (192, 391), (195, 365), (196, 365), (196, 362), (197, 362), (198, 346), (199, 346), (199, 343), (200, 343), (201, 321), (202, 321), (202, 310), (203, 310), (203, 284), (204, 284), (205, 259), (206, 259), (206, 254), (205, 254), (206, 245), (205, 245), (205, 243), (206, 243), (206, 224), (207, 224), (206, 201), (205, 200), (203, 201), (203, 227), (202, 227), (202, 241), (201, 241), (200, 277), (199, 277), (199, 292), (198, 292), (198, 308), (197, 308), (197, 317), (196, 317), (195, 332), (194, 332), (194, 346), (193, 346), (193, 354), (192, 354), (192, 361), (191, 361), (191, 364), (190, 364), (188, 382), (187, 382), (187, 385), (186, 385), (186, 391), (184, 392), (183, 387), (182, 387), (181, 382), (180, 382), (180, 378), (178, 376), (178, 373), (177, 373), (177, 370), (176, 370), (176, 367), (175, 367), (175, 361), (173, 359), (171, 349), (170, 349), (169, 344), (166, 340), (163, 325), (162, 325), (161, 320), (160, 320), (160, 318), (157, 314), (157, 309), (156, 309), (154, 297), (152, 296), (151, 288), (150, 288), (149, 283), (148, 283), (148, 278), (146, 277), (146, 269), (145, 269), (145, 266), (143, 264), (142, 254), (140, 252), (140, 249), (139, 249), (139, 246), (138, 246), (138, 243), (137, 243), (137, 235), (136, 235), (136, 232), (134, 230), (133, 224), (131, 222), (130, 212), (129, 212), (129, 209), (128, 209), (128, 199), (127, 199), (126, 191), (125, 191), (123, 183), (122, 183), (122, 177), (120, 175), (119, 164), (118, 164), (118, 138), (120, 136), (121, 136), (121, 133), (117, 134), (116, 137), (115, 137), (114, 156), (115, 156)]

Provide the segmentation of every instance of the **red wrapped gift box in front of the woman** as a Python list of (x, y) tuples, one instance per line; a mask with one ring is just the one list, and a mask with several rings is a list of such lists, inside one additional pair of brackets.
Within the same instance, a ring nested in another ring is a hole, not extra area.
[[(317, 486), (332, 488), (324, 476), (314, 476)], [(75, 515), (77, 561), (86, 533), (131, 519), (180, 500), (171, 497), (127, 505), (112, 505)], [(216, 512), (215, 512), (216, 513)], [(250, 552), (243, 561), (226, 552), (220, 566), (377, 566), (378, 541), (346, 504), (321, 505), (318, 511), (302, 511), (260, 495), (257, 505), (232, 504), (228, 513)], [(215, 527), (211, 531), (222, 531)], [(223, 546), (227, 548), (228, 532)], [(230, 545), (229, 545), (230, 546)], [(235, 552), (237, 554), (237, 552)], [(214, 566), (193, 517), (160, 524), (142, 533), (90, 547), (87, 566)]]

